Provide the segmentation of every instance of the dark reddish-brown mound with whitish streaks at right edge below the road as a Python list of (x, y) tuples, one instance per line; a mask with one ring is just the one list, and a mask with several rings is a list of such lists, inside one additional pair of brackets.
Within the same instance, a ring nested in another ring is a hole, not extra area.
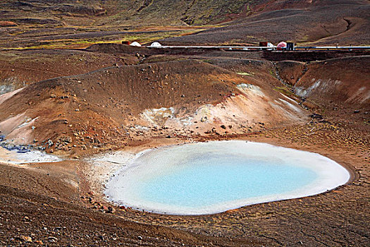
[(335, 102), (359, 109), (370, 107), (370, 56), (329, 59), (308, 65), (285, 61), (278, 66), (282, 78), (301, 97), (323, 105)]

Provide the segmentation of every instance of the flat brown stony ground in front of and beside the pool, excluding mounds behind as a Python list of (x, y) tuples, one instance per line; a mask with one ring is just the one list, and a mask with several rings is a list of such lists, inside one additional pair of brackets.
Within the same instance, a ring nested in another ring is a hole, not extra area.
[[(353, 178), (334, 191), (308, 198), (251, 205), (216, 215), (180, 217), (105, 203), (99, 193), (90, 190), (89, 181), (83, 181), (83, 167), (87, 164), (72, 161), (31, 164), (31, 169), (1, 165), (1, 243), (11, 246), (35, 243), (51, 246), (369, 245), (370, 140), (361, 126), (314, 121), (233, 138), (319, 152), (350, 169)], [(67, 177), (78, 181), (78, 186), (66, 183)], [(32, 243), (27, 242), (30, 240)]]

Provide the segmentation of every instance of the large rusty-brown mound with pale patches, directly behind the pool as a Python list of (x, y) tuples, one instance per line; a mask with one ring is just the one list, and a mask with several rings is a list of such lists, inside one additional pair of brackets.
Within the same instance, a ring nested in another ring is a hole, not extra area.
[(194, 60), (44, 80), (0, 99), (8, 140), (70, 153), (153, 133), (248, 133), (307, 116), (269, 83)]

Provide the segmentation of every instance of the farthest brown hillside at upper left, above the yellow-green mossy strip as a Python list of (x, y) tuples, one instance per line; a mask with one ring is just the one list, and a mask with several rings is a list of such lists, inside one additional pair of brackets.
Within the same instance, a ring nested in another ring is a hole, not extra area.
[[(1, 20), (73, 25), (203, 25), (232, 20), (259, 2), (250, 0), (32, 0), (2, 1)], [(94, 23), (92, 23), (92, 20)]]

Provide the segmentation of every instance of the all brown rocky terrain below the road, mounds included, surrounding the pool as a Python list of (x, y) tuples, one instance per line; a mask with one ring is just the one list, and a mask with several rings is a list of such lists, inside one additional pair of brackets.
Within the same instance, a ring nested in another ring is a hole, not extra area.
[[(65, 160), (0, 164), (0, 245), (369, 246), (368, 64), (366, 52), (150, 52), (117, 44), (4, 52), (1, 135)], [(352, 179), (307, 198), (183, 217), (107, 203), (87, 161), (228, 139), (318, 152)]]

